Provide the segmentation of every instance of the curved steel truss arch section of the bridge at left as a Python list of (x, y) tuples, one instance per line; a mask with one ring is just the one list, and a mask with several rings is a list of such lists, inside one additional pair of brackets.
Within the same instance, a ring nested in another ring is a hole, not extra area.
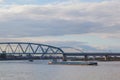
[(0, 42), (0, 54), (63, 54), (59, 47), (39, 43)]

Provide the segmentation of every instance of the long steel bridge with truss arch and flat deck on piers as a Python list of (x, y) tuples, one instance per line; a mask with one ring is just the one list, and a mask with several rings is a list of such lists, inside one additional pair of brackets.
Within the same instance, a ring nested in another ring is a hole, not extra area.
[[(0, 59), (4, 58), (23, 58), (27, 57), (33, 58), (36, 56), (37, 58), (44, 58), (46, 55), (57, 57), (61, 55), (63, 60), (67, 60), (67, 57), (71, 56), (83, 56), (85, 60), (88, 59), (89, 56), (104, 56), (107, 60), (110, 56), (120, 56), (120, 53), (110, 53), (110, 52), (64, 52), (61, 48), (39, 44), (39, 43), (27, 43), (27, 42), (0, 42)], [(57, 55), (57, 56), (56, 56)]]

